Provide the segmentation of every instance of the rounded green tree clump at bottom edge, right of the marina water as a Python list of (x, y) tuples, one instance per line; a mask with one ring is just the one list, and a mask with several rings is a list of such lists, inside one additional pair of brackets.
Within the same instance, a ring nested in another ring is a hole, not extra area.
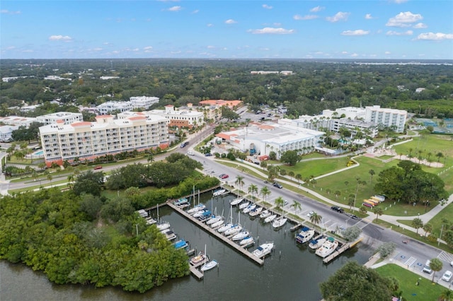
[(320, 286), (327, 301), (391, 300), (392, 292), (397, 290), (389, 278), (356, 261), (349, 261)]

